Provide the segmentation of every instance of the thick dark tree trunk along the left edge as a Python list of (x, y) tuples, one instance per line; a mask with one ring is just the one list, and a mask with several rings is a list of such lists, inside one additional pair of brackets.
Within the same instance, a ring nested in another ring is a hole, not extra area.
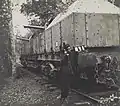
[(2, 76), (12, 74), (12, 12), (9, 0), (0, 0), (0, 73)]

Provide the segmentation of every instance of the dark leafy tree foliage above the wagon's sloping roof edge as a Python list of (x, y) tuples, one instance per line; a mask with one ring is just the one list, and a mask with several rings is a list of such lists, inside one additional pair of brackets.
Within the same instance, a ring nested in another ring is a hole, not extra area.
[(30, 17), (31, 24), (44, 25), (50, 17), (55, 17), (59, 13), (58, 2), (59, 0), (32, 0), (32, 3), (21, 5), (21, 13)]

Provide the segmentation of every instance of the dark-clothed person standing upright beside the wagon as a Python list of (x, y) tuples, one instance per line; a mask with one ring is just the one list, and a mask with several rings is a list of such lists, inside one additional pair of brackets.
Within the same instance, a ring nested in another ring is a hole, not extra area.
[(61, 82), (61, 105), (67, 98), (70, 88), (71, 72), (69, 68), (69, 52), (70, 46), (64, 45), (64, 53), (61, 61), (60, 82)]

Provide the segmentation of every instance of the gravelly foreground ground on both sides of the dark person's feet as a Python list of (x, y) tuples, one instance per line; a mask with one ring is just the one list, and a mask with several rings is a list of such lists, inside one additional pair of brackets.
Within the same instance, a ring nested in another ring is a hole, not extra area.
[[(16, 80), (13, 78), (3, 80), (0, 76), (0, 106), (60, 106), (58, 88), (46, 83), (44, 77), (37, 76), (25, 69), (22, 72), (22, 77)], [(89, 101), (85, 102), (79, 95), (70, 92), (64, 106), (77, 105), (93, 106)]]

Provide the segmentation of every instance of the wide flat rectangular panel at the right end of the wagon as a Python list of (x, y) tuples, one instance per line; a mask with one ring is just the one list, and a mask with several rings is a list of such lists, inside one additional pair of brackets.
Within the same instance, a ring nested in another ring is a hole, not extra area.
[(119, 45), (118, 16), (111, 14), (87, 14), (88, 46)]

